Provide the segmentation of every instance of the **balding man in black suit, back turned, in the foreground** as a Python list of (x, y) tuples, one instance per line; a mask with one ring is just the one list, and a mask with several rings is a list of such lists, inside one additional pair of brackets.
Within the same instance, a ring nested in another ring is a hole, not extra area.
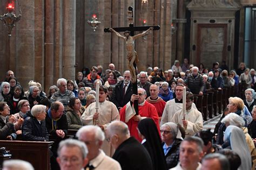
[(112, 158), (119, 162), (123, 170), (153, 169), (149, 153), (135, 138), (130, 137), (125, 123), (112, 121), (107, 126), (106, 136), (106, 140), (116, 149)]

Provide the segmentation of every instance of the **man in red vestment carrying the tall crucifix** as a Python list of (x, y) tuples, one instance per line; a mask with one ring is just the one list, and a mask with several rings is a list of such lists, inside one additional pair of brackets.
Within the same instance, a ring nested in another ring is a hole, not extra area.
[[(156, 124), (159, 134), (159, 117), (157, 114), (156, 107), (147, 102), (146, 100), (146, 91), (142, 88), (138, 89), (138, 95), (132, 94), (131, 100), (120, 110), (120, 120), (124, 121), (131, 133), (131, 136), (136, 138), (138, 141), (142, 141), (138, 134), (138, 124), (139, 121), (145, 118), (151, 118)], [(133, 107), (134, 100), (138, 100), (139, 104), (139, 114), (135, 115), (136, 112)]]

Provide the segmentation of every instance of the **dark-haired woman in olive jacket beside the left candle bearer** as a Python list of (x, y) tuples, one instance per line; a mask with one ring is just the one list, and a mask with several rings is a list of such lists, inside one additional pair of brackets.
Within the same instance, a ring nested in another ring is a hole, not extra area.
[(81, 115), (85, 111), (79, 98), (71, 98), (69, 101), (68, 111), (66, 112), (66, 119), (68, 120), (68, 128), (70, 130), (79, 130), (83, 127), (80, 120)]

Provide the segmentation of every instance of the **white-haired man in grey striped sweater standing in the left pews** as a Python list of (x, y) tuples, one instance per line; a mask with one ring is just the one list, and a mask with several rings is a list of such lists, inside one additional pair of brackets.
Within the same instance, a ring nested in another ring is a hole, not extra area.
[(68, 108), (69, 100), (75, 97), (75, 94), (67, 89), (66, 79), (60, 78), (57, 80), (59, 90), (52, 94), (51, 102), (60, 101), (64, 105), (65, 112)]

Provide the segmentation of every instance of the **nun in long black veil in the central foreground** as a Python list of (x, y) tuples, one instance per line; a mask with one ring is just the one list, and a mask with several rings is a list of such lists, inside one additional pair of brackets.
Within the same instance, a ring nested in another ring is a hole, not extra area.
[(138, 124), (139, 136), (142, 138), (142, 145), (149, 152), (153, 169), (169, 169), (167, 168), (163, 148), (161, 147), (161, 139), (157, 126), (151, 118), (142, 119)]

